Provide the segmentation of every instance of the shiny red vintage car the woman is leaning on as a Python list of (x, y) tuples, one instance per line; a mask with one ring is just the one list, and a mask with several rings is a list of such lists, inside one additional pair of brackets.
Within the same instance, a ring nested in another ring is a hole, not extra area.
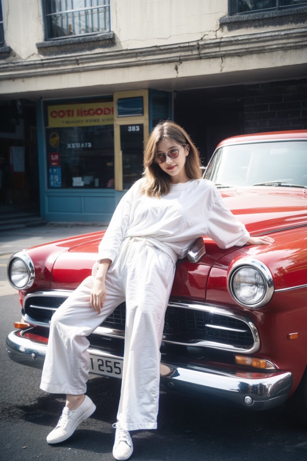
[[(251, 410), (288, 400), (307, 422), (307, 130), (226, 139), (205, 179), (271, 246), (220, 249), (203, 236), (179, 260), (161, 347), (161, 386)], [(205, 180), (204, 179), (204, 180)], [(54, 311), (92, 271), (104, 232), (14, 254), (24, 325), (9, 357), (41, 367)], [(205, 251), (203, 248), (205, 245)], [(125, 303), (90, 336), (93, 373), (122, 374)], [(103, 384), (103, 381), (102, 381)]]

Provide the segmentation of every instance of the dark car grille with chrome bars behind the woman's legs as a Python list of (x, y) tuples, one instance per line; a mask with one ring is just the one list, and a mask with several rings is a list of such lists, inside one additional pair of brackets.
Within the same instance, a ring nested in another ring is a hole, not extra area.
[[(30, 294), (23, 302), (23, 318), (31, 325), (49, 325), (52, 314), (65, 301), (70, 292), (44, 292)], [(234, 316), (231, 311), (219, 308), (170, 302), (165, 314), (163, 342), (186, 345), (203, 345), (222, 349), (255, 348), (257, 333), (252, 330), (249, 319)], [(223, 313), (220, 313), (220, 311)], [(100, 325), (104, 335), (112, 331), (124, 335), (126, 303), (122, 302)], [(98, 329), (99, 330), (99, 329)], [(98, 332), (98, 331), (97, 331)], [(102, 334), (102, 333), (100, 333)], [(228, 349), (228, 350), (229, 350)]]

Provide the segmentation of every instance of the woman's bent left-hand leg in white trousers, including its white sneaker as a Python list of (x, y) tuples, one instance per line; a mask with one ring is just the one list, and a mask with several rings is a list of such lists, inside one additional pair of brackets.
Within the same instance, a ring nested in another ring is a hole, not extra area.
[(67, 394), (67, 397), (58, 425), (47, 436), (48, 443), (66, 440), (96, 409), (91, 399), (84, 395), (89, 372), (86, 336), (124, 297), (118, 274), (114, 276), (114, 270), (110, 271), (106, 277), (106, 300), (98, 315), (90, 305), (93, 282), (93, 276), (86, 278), (52, 316), (41, 389)]

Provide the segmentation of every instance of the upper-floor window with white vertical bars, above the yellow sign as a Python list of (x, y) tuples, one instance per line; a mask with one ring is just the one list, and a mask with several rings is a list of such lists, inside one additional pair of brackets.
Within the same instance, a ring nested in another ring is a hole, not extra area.
[(43, 0), (45, 39), (110, 31), (109, 0)]

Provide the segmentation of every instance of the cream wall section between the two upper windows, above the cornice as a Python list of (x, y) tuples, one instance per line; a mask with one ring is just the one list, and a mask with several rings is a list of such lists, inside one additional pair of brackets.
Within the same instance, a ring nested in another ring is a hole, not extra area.
[(227, 0), (111, 0), (111, 25), (123, 49), (215, 38)]

